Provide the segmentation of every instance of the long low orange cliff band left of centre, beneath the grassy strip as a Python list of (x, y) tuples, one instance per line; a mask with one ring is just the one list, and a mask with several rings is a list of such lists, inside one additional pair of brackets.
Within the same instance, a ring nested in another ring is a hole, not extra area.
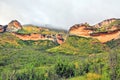
[(37, 34), (37, 33), (32, 33), (32, 34), (12, 33), (12, 34), (21, 40), (51, 40), (57, 42), (58, 44), (62, 44), (64, 42), (64, 39), (61, 34), (56, 34), (56, 35), (45, 35), (45, 34)]

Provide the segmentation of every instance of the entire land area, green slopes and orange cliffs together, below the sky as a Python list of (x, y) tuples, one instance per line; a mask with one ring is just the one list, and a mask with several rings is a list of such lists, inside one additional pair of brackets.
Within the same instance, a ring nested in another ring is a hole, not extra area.
[(69, 33), (17, 20), (1, 25), (0, 80), (119, 80), (119, 27), (119, 19)]

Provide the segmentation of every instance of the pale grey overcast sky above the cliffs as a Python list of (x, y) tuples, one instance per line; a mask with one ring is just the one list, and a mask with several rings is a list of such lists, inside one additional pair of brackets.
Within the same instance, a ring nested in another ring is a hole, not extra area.
[(120, 0), (0, 0), (0, 24), (51, 24), (69, 29), (73, 24), (120, 18)]

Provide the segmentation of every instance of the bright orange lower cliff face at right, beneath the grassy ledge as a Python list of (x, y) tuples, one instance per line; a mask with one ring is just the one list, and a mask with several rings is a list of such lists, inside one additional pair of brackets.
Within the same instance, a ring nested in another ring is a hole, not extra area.
[(116, 26), (112, 26), (108, 32), (93, 33), (93, 30), (87, 28), (85, 25), (75, 25), (71, 27), (69, 33), (70, 35), (96, 38), (101, 43), (106, 43), (112, 39), (120, 38), (120, 29), (117, 29)]

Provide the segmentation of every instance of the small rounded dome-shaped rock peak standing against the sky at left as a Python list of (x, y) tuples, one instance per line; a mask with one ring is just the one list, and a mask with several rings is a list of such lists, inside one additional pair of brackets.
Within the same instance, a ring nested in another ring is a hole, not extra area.
[(20, 29), (22, 29), (22, 25), (17, 20), (11, 21), (7, 27), (8, 32), (17, 32)]

